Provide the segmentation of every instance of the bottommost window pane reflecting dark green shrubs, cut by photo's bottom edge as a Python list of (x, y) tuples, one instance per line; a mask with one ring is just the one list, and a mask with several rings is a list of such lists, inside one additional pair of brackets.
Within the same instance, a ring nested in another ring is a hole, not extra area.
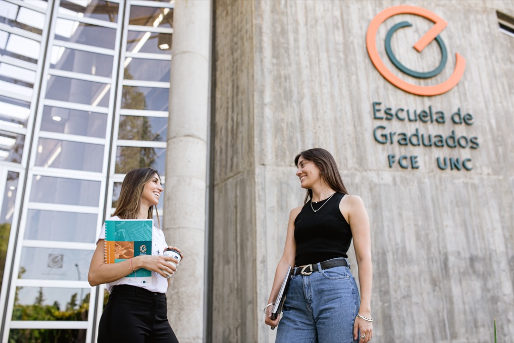
[(11, 329), (9, 331), (9, 342), (79, 343), (85, 341), (85, 329)]

